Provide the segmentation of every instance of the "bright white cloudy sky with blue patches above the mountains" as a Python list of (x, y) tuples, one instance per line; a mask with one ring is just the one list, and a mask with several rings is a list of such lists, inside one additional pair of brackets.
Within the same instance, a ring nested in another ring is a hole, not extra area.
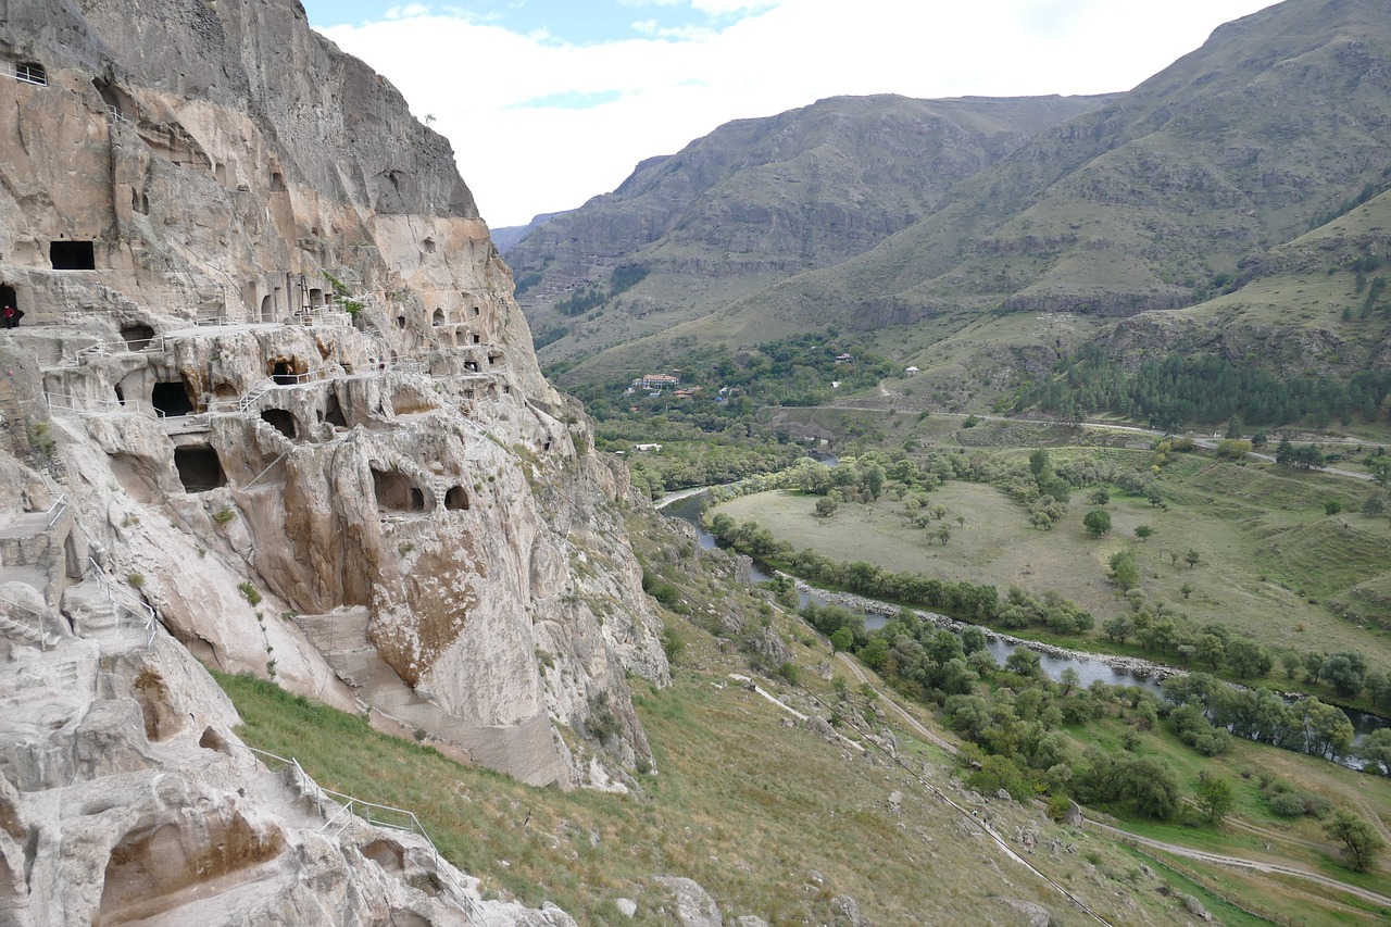
[(1127, 90), (1199, 47), (1220, 24), (1270, 6), (455, 3), (463, 6), (305, 0), (316, 28), (387, 75), (419, 118), (434, 117), (494, 228), (580, 206), (623, 182), (637, 161), (676, 153), (730, 120), (826, 96)]

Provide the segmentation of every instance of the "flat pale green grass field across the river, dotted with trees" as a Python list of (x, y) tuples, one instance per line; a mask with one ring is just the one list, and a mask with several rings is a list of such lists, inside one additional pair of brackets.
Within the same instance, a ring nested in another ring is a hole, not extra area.
[[(1139, 452), (1114, 448), (1053, 451), (1123, 461)], [(886, 493), (868, 505), (843, 504), (817, 518), (815, 497), (791, 491), (746, 496), (716, 511), (755, 521), (794, 548), (811, 547), (832, 560), (864, 560), (890, 571), (944, 579), (1056, 590), (1093, 614), (1097, 624), (1124, 610), (1107, 578), (1110, 555), (1136, 553), (1141, 587), (1205, 624), (1220, 621), (1270, 646), (1298, 651), (1360, 650), (1391, 667), (1391, 633), (1337, 618), (1327, 599), (1391, 571), (1391, 526), (1358, 512), (1366, 484), (1317, 473), (1180, 455), (1160, 480), (1167, 508), (1113, 491), (1113, 530), (1092, 539), (1082, 516), (1092, 508), (1075, 491), (1053, 530), (1031, 528), (1022, 505), (1000, 490), (950, 482), (931, 494), (947, 515), (926, 530), (914, 528), (903, 502)], [(1324, 502), (1345, 509), (1324, 514)], [(964, 521), (958, 522), (957, 518)], [(942, 544), (936, 529), (951, 537)], [(1155, 533), (1138, 540), (1134, 530)], [(1199, 553), (1195, 566), (1184, 561)], [(1191, 592), (1185, 597), (1184, 586)]]

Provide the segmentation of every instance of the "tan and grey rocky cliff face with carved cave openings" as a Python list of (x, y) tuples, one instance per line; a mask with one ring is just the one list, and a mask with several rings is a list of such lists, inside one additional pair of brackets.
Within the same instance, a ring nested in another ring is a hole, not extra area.
[[(536, 784), (648, 763), (625, 679), (668, 670), (626, 475), (541, 377), (448, 142), (292, 0), (11, 3), (0, 110), (8, 660), (117, 646), (90, 605), (111, 587), (157, 615), (142, 672), (198, 676), (192, 653)], [(138, 675), (102, 683), (114, 725)], [(189, 683), (171, 717), (232, 743), (214, 696)], [(100, 711), (68, 717), (100, 739)], [(0, 763), (7, 820), (33, 821), (7, 827), (11, 874), (68, 827), (36, 810), (75, 788), (26, 772), (40, 739)], [(230, 807), (235, 779), (166, 811)], [(295, 846), (238, 814), (248, 866)], [(47, 889), (7, 884), (38, 917)]]

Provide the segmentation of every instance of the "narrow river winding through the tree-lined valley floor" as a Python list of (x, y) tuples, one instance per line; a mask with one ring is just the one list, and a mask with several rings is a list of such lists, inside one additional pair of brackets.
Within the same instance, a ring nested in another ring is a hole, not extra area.
[[(691, 525), (700, 534), (700, 546), (711, 550), (718, 547), (719, 543), (701, 523), (701, 512), (705, 507), (705, 491), (696, 490), (690, 494), (672, 498), (658, 508), (668, 518), (679, 518)], [(751, 569), (751, 578), (754, 583), (761, 583), (771, 580), (772, 575), (766, 569), (759, 568), (755, 562)], [(815, 601), (821, 605), (836, 604), (862, 614), (865, 617), (867, 631), (878, 631), (879, 628), (883, 628), (885, 624), (887, 624), (890, 614), (897, 611), (896, 607), (871, 603), (871, 600), (860, 596), (851, 596), (849, 593), (829, 593), (810, 586), (803, 580), (797, 580), (797, 597), (803, 605), (808, 601)], [(925, 617), (928, 615), (928, 612), (918, 614)], [(957, 629), (961, 626), (960, 622), (942, 615), (932, 615), (929, 619), (939, 619), (939, 624), (946, 622)], [(1072, 670), (1081, 678), (1084, 686), (1089, 686), (1099, 681), (1113, 686), (1139, 686), (1141, 689), (1161, 695), (1163, 689), (1160, 688), (1160, 683), (1167, 676), (1187, 672), (1185, 670), (1180, 670), (1177, 667), (1135, 657), (1106, 657), (1086, 654), (1077, 650), (1064, 650), (1061, 647), (1040, 644), (1031, 640), (1020, 640), (1018, 637), (1010, 637), (1008, 635), (1000, 635), (989, 629), (986, 629), (986, 635), (989, 636), (988, 647), (990, 654), (995, 657), (996, 664), (1004, 665), (1004, 661), (1008, 660), (1015, 647), (1029, 647), (1039, 654), (1039, 665), (1049, 679), (1060, 679), (1064, 670)], [(1342, 711), (1348, 715), (1348, 720), (1352, 721), (1352, 728), (1356, 732), (1353, 743), (1373, 731), (1391, 727), (1391, 721), (1387, 718), (1369, 714), (1366, 711), (1358, 711), (1356, 708), (1342, 708)], [(1356, 756), (1345, 756), (1341, 759), (1341, 763), (1351, 768), (1362, 768)]]

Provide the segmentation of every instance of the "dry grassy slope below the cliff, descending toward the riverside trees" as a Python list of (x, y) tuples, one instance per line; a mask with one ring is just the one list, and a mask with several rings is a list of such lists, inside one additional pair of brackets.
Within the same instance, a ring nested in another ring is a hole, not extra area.
[[(549, 899), (581, 923), (670, 923), (655, 874), (696, 878), (726, 914), (755, 913), (773, 924), (833, 923), (832, 899), (842, 894), (855, 898), (876, 924), (1015, 923), (1017, 916), (996, 901), (1000, 896), (1042, 903), (1063, 923), (1078, 917), (1054, 889), (1006, 862), (982, 838), (964, 837), (956, 814), (917, 779), (925, 775), (956, 800), (970, 802), (950, 784), (951, 761), (890, 724), (892, 714), (874, 727), (894, 729), (907, 770), (871, 763), (804, 728), (785, 728), (779, 708), (733, 683), (729, 672), (758, 674), (704, 628), (718, 614), (757, 631), (761, 599), (730, 586), (718, 554), (714, 561), (702, 558), (694, 541), (675, 540), (652, 519), (634, 521), (633, 537), (662, 576), (680, 587), (683, 611), (698, 617), (700, 625), (665, 612), (687, 646), (669, 689), (637, 683), (634, 704), (658, 772), (638, 775), (629, 795), (524, 786), (380, 735), (360, 718), (268, 683), (223, 676), (245, 720), (242, 736), (253, 746), (296, 756), (325, 786), (416, 811), (441, 852), (479, 876), (485, 892), (531, 905)], [(825, 714), (833, 686), (814, 671), (826, 661), (823, 644), (778, 608), (771, 619), (803, 667), (803, 685), (761, 678), (762, 685), (803, 711)], [(874, 715), (853, 685), (850, 702), (865, 717)], [(1113, 725), (1097, 736), (1114, 746), (1121, 734)], [(1188, 779), (1210, 767), (1166, 739), (1145, 738), (1142, 749), (1164, 750)], [(1216, 763), (1238, 782), (1246, 782), (1239, 778), (1244, 770), (1271, 771), (1298, 788), (1359, 803), (1365, 813), (1391, 820), (1391, 789), (1327, 763), (1248, 743)], [(901, 814), (887, 805), (892, 791), (904, 795)], [(1316, 825), (1271, 820), (1249, 784), (1239, 795), (1239, 814), (1277, 834), (1276, 856), (1296, 863), (1330, 856), (1331, 846)], [(1319, 923), (1324, 910), (1356, 908), (1326, 896), (1337, 892), (1252, 881), (1192, 862), (1182, 863), (1184, 873), (1195, 874), (1198, 882), (1157, 866), (1156, 876), (1145, 876), (1131, 850), (1095, 831), (1057, 827), (1007, 802), (990, 802), (988, 810), (1007, 837), (1024, 824), (1038, 827), (1039, 849), (1029, 862), (1111, 923), (1185, 923), (1178, 902), (1156, 891), (1160, 885), (1198, 894), (1232, 924), (1259, 921), (1199, 891), (1198, 884), (1244, 898), (1278, 899), (1281, 912), (1309, 914)], [(1164, 831), (1163, 838), (1196, 839), (1241, 855), (1251, 849), (1251, 841), (1232, 827), (1221, 834), (1178, 828)], [(1077, 849), (1053, 852), (1053, 839)], [(1333, 863), (1326, 869), (1335, 878), (1352, 878)], [(636, 919), (618, 912), (618, 898), (637, 899)]]

